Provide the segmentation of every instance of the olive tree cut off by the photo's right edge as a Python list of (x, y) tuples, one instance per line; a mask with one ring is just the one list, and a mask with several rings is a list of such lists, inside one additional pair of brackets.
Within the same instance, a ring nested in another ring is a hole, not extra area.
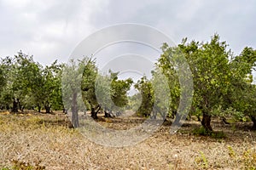
[(256, 66), (256, 51), (244, 48), (240, 55), (230, 61), (233, 73), (230, 95), (226, 96), (227, 103), (239, 111), (240, 116), (249, 116), (256, 129), (256, 87), (253, 84), (252, 71)]

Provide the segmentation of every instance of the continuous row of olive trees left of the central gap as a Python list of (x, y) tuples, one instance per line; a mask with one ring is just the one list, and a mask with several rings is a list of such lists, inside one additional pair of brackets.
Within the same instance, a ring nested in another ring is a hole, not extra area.
[[(64, 99), (65, 109), (73, 113), (77, 114), (85, 105), (93, 118), (97, 118), (98, 111), (110, 116), (115, 108), (122, 108), (128, 102), (126, 94), (131, 84), (131, 79), (119, 80), (118, 73), (112, 71), (101, 75), (95, 59), (84, 57), (71, 59), (66, 65), (55, 61), (43, 66), (32, 56), (19, 52), (14, 57), (1, 59), (0, 109), (13, 112), (37, 109), (40, 112), (44, 108), (49, 113), (64, 109)], [(79, 98), (83, 99), (80, 103)]]

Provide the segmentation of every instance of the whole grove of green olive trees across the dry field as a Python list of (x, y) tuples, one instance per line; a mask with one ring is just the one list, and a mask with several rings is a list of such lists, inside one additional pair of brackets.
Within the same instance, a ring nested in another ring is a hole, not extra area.
[[(255, 129), (256, 87), (252, 84), (252, 70), (256, 51), (244, 48), (240, 55), (234, 56), (227, 47), (218, 35), (214, 35), (210, 42), (183, 39), (177, 47), (168, 47), (165, 43), (152, 71), (153, 78), (143, 77), (135, 84), (142, 96), (138, 112), (154, 118), (158, 113), (163, 118), (167, 114), (175, 115), (175, 123), (178, 123), (183, 119), (183, 112), (189, 111), (199, 119), (202, 116), (201, 125), (207, 131), (212, 131), (212, 116), (249, 116)], [(191, 71), (191, 77), (187, 71)], [(181, 94), (188, 94), (189, 86), (180, 82), (191, 83), (189, 78), (192, 78), (194, 88), (192, 105), (181, 108), (179, 104), (186, 98)], [(93, 118), (97, 118), (99, 111), (110, 116), (128, 104), (126, 94), (131, 84), (131, 79), (119, 80), (118, 73), (112, 71), (108, 75), (100, 74), (95, 59), (73, 59), (68, 65), (59, 65), (55, 61), (43, 66), (32, 56), (20, 52), (15, 57), (1, 60), (0, 107), (14, 112), (35, 107), (38, 111), (44, 108), (46, 112), (60, 110), (63, 108), (62, 91), (65, 109), (71, 109), (73, 125), (78, 127), (81, 106), (85, 105)], [(78, 103), (79, 98), (82, 103)], [(138, 99), (137, 96), (131, 98)]]

